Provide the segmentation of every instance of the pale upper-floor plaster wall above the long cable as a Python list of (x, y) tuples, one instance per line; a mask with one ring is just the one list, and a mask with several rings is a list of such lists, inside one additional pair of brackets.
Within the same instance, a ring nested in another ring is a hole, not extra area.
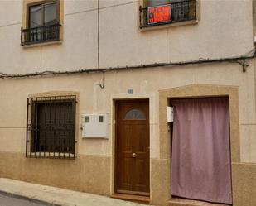
[[(28, 1), (34, 2), (24, 2)], [(23, 1), (0, 2), (0, 43), (5, 51), (0, 57), (1, 72), (97, 68), (97, 1), (60, 2), (63, 2), (62, 44), (32, 48), (20, 46), (20, 29), (25, 18)], [(223, 58), (253, 49), (251, 0), (200, 0), (200, 20), (196, 25), (153, 31), (138, 28), (139, 4), (138, 0), (100, 0), (101, 67)], [(227, 15), (226, 11), (233, 12)]]

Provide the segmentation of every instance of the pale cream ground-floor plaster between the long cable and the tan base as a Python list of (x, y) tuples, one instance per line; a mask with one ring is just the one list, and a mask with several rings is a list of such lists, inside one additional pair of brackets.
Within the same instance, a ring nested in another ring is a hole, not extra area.
[[(252, 62), (250, 62), (252, 65)], [(232, 74), (232, 75), (230, 75)], [(184, 78), (189, 77), (189, 78)], [(149, 97), (151, 157), (159, 158), (158, 138), (158, 90), (190, 84), (230, 85), (239, 88), (240, 159), (256, 162), (254, 138), (255, 98), (254, 69), (246, 73), (238, 64), (195, 65), (146, 69), (138, 71), (109, 72), (105, 74), (105, 88), (97, 84), (102, 74), (78, 74), (31, 79), (0, 79), (0, 151), (24, 151), (26, 135), (27, 97), (34, 93), (73, 91), (80, 94), (79, 120), (82, 113), (111, 113), (114, 98)], [(118, 87), (116, 86), (118, 85)], [(128, 89), (133, 94), (128, 95)], [(111, 115), (110, 115), (111, 116)], [(110, 121), (111, 122), (111, 121)], [(78, 122), (80, 124), (80, 121)], [(22, 135), (22, 136), (21, 136)], [(78, 131), (78, 152), (83, 155), (110, 156), (109, 140), (82, 140)], [(111, 135), (111, 134), (110, 134)], [(16, 141), (9, 141), (10, 137)]]

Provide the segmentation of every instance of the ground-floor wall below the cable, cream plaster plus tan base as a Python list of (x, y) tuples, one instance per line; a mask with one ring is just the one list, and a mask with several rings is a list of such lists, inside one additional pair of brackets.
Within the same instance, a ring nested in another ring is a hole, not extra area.
[[(112, 194), (114, 192), (114, 115), (110, 115), (109, 140), (82, 139), (78, 128), (76, 160), (26, 159), (27, 97), (35, 93), (51, 94), (56, 91), (77, 93), (79, 95), (77, 127), (80, 127), (82, 113), (113, 114), (115, 99), (149, 98), (151, 201), (152, 204), (166, 205), (167, 200), (170, 199), (170, 159), (167, 150), (169, 137), (162, 139), (164, 132), (159, 123), (163, 120), (160, 121), (159, 113), (166, 111), (165, 107), (159, 106), (159, 90), (186, 87), (188, 88), (186, 93), (189, 95), (193, 85), (197, 84), (210, 84), (210, 86), (205, 85), (206, 90), (212, 87), (215, 92), (216, 85), (237, 89), (237, 98), (234, 99), (234, 103), (239, 112), (234, 115), (236, 119), (239, 119), (239, 122), (236, 122), (239, 127), (232, 132), (240, 146), (236, 144), (237, 146), (234, 147), (236, 148), (234, 162), (239, 163), (239, 158), (242, 162), (247, 160), (254, 169), (254, 164), (252, 164), (256, 159), (254, 144), (250, 146), (250, 151), (244, 148), (244, 144), (248, 144), (248, 140), (254, 142), (254, 133), (244, 133), (241, 129), (243, 122), (255, 121), (254, 67), (252, 63), (253, 61), (249, 61), (251, 66), (246, 73), (242, 72), (240, 65), (230, 63), (109, 72), (105, 74), (104, 89), (100, 89), (97, 85), (102, 81), (102, 74), (0, 79), (0, 93), (2, 94), (0, 106), (4, 108), (0, 110), (0, 176), (96, 194)], [(204, 86), (201, 87), (204, 90)], [(133, 89), (133, 94), (128, 94), (128, 89)], [(177, 92), (176, 95), (179, 93)], [(218, 93), (216, 92), (216, 94)], [(207, 93), (204, 95), (207, 96)], [(246, 156), (250, 156), (250, 159), (246, 159)], [(10, 162), (14, 162), (14, 164), (10, 165)], [(22, 170), (18, 170), (18, 168), (22, 168)], [(239, 169), (244, 170), (243, 165)], [(241, 180), (246, 179), (244, 173), (239, 169), (236, 170), (233, 179), (234, 185), (237, 185), (234, 191), (237, 191), (239, 185), (242, 184), (240, 182), (235, 184), (237, 177), (240, 176)], [(49, 173), (60, 173), (61, 175), (48, 177), (46, 174)], [(65, 181), (65, 178), (68, 180)], [(83, 179), (83, 184), (78, 182), (80, 179)], [(99, 181), (101, 185), (97, 184)], [(243, 206), (251, 206), (246, 199), (244, 200), (244, 192), (238, 194), (235, 201), (244, 202)]]

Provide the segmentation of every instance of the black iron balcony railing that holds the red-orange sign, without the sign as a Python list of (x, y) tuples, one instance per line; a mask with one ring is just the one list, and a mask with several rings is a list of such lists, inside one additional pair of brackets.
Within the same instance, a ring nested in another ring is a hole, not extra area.
[[(162, 5), (167, 6), (167, 5)], [(140, 13), (140, 28), (149, 26), (160, 26), (166, 24), (172, 24), (176, 22), (186, 22), (196, 20), (196, 0), (183, 0), (178, 2), (172, 2), (168, 6), (171, 7), (170, 18), (165, 22), (149, 22), (149, 9), (150, 7), (139, 7)]]

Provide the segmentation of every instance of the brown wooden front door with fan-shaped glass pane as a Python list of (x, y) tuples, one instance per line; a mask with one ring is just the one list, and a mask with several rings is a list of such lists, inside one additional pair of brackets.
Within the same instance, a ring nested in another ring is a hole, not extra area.
[(148, 100), (117, 103), (116, 192), (149, 195)]

